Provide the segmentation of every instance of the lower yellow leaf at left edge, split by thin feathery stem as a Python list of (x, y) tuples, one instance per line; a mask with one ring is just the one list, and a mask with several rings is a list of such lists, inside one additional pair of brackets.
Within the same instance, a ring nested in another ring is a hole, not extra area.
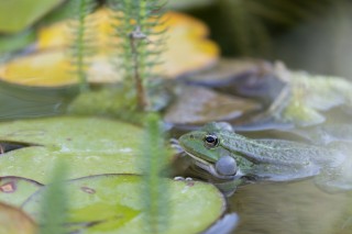
[[(35, 87), (59, 87), (78, 83), (66, 54), (62, 49), (38, 52), (0, 67), (0, 79)], [(97, 55), (87, 70), (89, 82), (113, 82), (121, 79), (108, 57)]]

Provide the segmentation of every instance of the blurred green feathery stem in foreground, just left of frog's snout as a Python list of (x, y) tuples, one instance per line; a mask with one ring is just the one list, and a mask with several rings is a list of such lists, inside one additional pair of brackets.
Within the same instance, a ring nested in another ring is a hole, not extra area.
[(167, 229), (168, 188), (161, 176), (167, 164), (162, 122), (156, 114), (146, 118), (145, 135), (143, 138), (143, 191), (141, 199), (145, 211), (145, 225), (148, 233), (164, 233)]

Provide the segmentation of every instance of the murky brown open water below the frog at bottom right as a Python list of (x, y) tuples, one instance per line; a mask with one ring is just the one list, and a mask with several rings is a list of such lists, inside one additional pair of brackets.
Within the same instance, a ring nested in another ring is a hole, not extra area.
[(240, 234), (348, 234), (352, 230), (352, 192), (327, 193), (311, 180), (253, 183), (230, 199), (240, 216)]

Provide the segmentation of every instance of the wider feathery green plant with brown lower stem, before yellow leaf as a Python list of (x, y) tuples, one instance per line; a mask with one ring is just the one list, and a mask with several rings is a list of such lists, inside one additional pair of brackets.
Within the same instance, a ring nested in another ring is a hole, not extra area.
[[(124, 73), (125, 87), (135, 91), (140, 110), (147, 109), (147, 80), (155, 76), (153, 70), (161, 64), (160, 55), (164, 51), (162, 35), (166, 29), (155, 30), (163, 23), (164, 3), (160, 0), (110, 0), (118, 21), (116, 36), (120, 38), (118, 52), (122, 62), (118, 69)], [(151, 40), (156, 35), (157, 40)]]

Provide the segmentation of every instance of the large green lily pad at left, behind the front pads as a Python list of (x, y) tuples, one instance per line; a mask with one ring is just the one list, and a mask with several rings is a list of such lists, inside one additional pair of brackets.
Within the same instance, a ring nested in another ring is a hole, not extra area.
[(101, 118), (62, 116), (0, 123), (2, 141), (41, 145), (2, 154), (0, 176), (46, 183), (58, 158), (70, 166), (68, 178), (139, 174), (141, 134), (138, 126)]

